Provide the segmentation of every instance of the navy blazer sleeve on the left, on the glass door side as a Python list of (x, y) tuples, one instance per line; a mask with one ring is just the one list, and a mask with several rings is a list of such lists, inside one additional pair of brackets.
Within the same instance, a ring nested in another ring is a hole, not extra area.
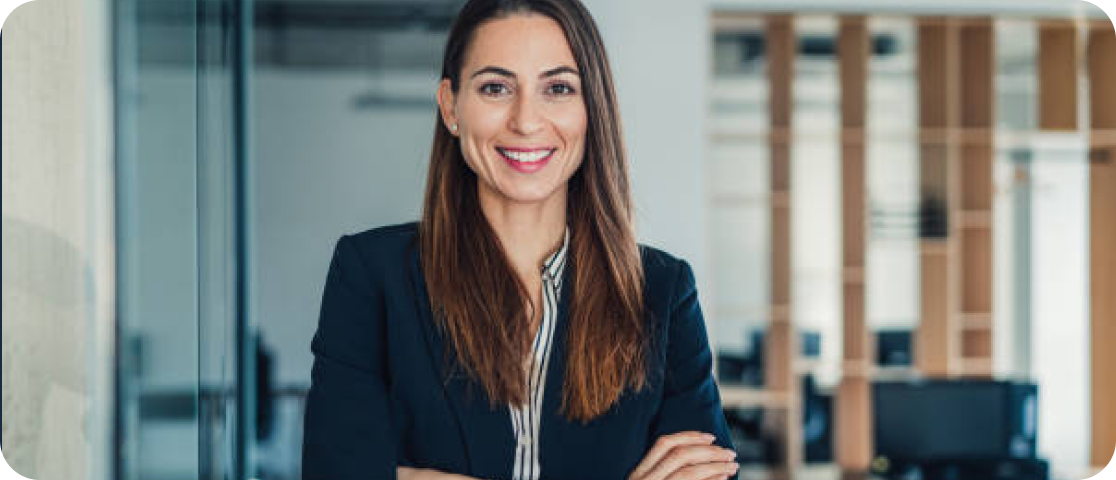
[(334, 249), (310, 342), (302, 480), (395, 479), (383, 286), (349, 237)]

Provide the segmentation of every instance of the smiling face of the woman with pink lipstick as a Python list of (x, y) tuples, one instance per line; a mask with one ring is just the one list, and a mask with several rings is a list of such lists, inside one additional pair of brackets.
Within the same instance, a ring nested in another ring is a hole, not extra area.
[(442, 80), (439, 105), (445, 127), (458, 126), (479, 194), (516, 203), (564, 201), (581, 164), (588, 122), (561, 27), (540, 15), (487, 21), (474, 31), (460, 75), (456, 94)]

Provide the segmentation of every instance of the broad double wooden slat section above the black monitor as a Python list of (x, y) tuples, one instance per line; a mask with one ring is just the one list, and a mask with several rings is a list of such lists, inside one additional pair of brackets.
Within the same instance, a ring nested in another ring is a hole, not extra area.
[[(918, 20), (923, 228), (916, 365), (927, 376), (992, 374), (990, 18)], [(932, 221), (931, 221), (932, 220)]]

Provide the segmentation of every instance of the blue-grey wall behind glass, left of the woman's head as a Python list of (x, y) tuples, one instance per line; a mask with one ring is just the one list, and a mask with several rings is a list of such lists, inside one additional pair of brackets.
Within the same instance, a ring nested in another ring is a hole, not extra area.
[(419, 219), (434, 128), (430, 76), (389, 78), (429, 107), (358, 109), (367, 75), (259, 69), (252, 79), (253, 311), (277, 380), (309, 382), (310, 338), (334, 243)]

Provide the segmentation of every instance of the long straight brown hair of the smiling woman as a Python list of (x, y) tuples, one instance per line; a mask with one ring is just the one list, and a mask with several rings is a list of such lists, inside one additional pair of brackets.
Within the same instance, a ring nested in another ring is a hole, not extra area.
[[(644, 388), (651, 351), (627, 161), (600, 33), (577, 0), (471, 0), (450, 31), (442, 78), (456, 93), (477, 28), (517, 13), (554, 19), (581, 73), (588, 125), (585, 159), (567, 196), (569, 285), (564, 289), (570, 298), (561, 413), (587, 423), (626, 388)], [(452, 347), (492, 406), (521, 405), (527, 400), (522, 365), (533, 335), (526, 307), (530, 296), (481, 212), (477, 175), (444, 125), (439, 113), (420, 225), (431, 307), (449, 338), (446, 355)]]

